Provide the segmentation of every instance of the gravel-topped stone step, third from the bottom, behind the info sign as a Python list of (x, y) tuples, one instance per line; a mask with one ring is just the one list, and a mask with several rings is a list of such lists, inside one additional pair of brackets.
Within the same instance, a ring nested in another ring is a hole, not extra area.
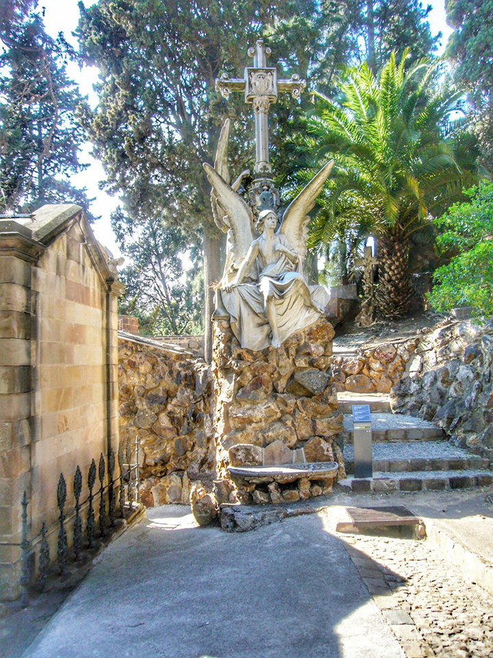
[[(445, 437), (435, 424), (401, 413), (372, 413), (372, 441), (436, 441)], [(344, 414), (344, 444), (353, 443), (353, 417)]]

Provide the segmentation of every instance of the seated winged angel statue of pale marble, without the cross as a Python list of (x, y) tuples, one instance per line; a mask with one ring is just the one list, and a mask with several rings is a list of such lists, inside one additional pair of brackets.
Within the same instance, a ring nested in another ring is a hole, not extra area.
[[(212, 185), (216, 223), (227, 231), (227, 255), (223, 278), (216, 287), (214, 317), (229, 317), (231, 330), (242, 348), (258, 351), (279, 348), (292, 334), (314, 324), (325, 314), (329, 294), (323, 286), (309, 286), (303, 276), (307, 254), (307, 212), (329, 177), (333, 161), (315, 177), (278, 217), (274, 210), (261, 210), (253, 234), (253, 212), (233, 186), (225, 167), (223, 128), (215, 168), (204, 163)], [(223, 178), (223, 174), (225, 178)], [(244, 174), (243, 174), (244, 175)]]

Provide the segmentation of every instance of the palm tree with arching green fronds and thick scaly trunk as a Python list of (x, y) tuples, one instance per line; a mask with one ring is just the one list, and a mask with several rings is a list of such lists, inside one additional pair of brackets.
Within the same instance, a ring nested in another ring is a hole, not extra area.
[(410, 236), (474, 181), (464, 121), (450, 121), (462, 94), (433, 92), (439, 62), (406, 66), (408, 56), (409, 49), (397, 64), (392, 53), (377, 75), (367, 64), (349, 69), (333, 101), (315, 94), (304, 144), (318, 163), (336, 161), (311, 245), (328, 245), (342, 232), (354, 244), (378, 236), (376, 302), (388, 317), (405, 315), (412, 297)]

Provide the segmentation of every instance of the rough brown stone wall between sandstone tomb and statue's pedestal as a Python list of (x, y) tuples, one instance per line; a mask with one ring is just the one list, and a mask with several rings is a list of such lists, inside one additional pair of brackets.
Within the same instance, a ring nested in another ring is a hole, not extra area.
[(190, 485), (213, 478), (210, 369), (131, 339), (120, 339), (118, 353), (120, 440), (125, 449), (139, 436), (142, 502), (188, 504)]

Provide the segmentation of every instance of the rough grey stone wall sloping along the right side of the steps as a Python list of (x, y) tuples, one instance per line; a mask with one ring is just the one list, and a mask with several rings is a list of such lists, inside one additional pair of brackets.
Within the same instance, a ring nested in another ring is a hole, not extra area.
[(444, 321), (419, 339), (409, 374), (392, 388), (392, 409), (493, 459), (493, 322)]

